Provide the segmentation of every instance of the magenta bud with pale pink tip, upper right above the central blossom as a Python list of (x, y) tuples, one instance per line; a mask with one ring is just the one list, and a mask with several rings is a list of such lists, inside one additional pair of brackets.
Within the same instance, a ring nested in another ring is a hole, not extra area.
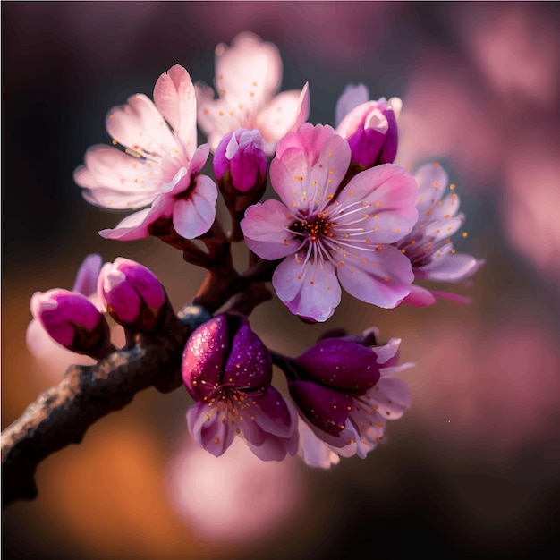
[(403, 102), (399, 98), (368, 101), (344, 117), (336, 132), (348, 141), (352, 164), (369, 169), (395, 161), (398, 141), (396, 119)]

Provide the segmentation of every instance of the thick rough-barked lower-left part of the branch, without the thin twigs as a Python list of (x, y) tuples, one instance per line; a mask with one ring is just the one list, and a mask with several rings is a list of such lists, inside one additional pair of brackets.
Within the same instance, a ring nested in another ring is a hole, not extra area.
[(95, 366), (71, 366), (58, 386), (31, 403), (2, 432), (2, 505), (33, 499), (38, 463), (70, 444), (109, 412), (130, 403), (154, 386), (169, 392), (181, 386), (181, 355), (191, 328), (167, 312), (153, 337), (140, 338), (130, 350), (112, 352)]

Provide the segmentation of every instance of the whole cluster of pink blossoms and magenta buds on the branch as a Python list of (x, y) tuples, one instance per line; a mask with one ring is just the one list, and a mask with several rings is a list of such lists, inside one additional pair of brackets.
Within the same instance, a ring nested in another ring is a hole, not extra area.
[[(308, 83), (277, 93), (281, 81), (278, 49), (242, 33), (216, 47), (217, 98), (175, 64), (157, 79), (153, 101), (137, 94), (112, 109), (113, 146), (89, 148), (74, 174), (90, 203), (133, 211), (100, 234), (158, 237), (214, 277), (231, 267), (230, 243), (244, 242), (253, 269), (267, 271), (279, 300), (308, 322), (331, 318), (343, 289), (384, 309), (427, 306), (438, 296), (465, 301), (420, 285), (462, 282), (483, 261), (453, 248), (464, 216), (454, 185), (444, 196), (443, 167), (412, 174), (393, 163), (401, 99), (371, 100), (366, 86), (350, 85), (334, 128), (308, 121)], [(198, 130), (208, 143), (197, 146)], [(213, 176), (205, 170), (210, 152)], [(227, 233), (216, 217), (218, 194), (231, 216)], [(79, 292), (36, 294), (31, 309), (56, 342), (95, 357), (107, 342), (106, 319)], [(97, 294), (130, 332), (157, 332), (169, 307), (157, 278), (127, 259), (101, 269)], [(263, 344), (246, 315), (215, 311), (192, 329), (182, 355), (194, 401), (187, 425), (211, 454), (239, 436), (263, 460), (299, 453), (326, 468), (340, 456), (365, 458), (386, 420), (410, 406), (395, 377), (411, 365), (399, 365), (400, 339), (378, 343), (373, 331), (323, 337), (288, 358)], [(284, 372), (284, 393), (273, 386), (273, 365)]]

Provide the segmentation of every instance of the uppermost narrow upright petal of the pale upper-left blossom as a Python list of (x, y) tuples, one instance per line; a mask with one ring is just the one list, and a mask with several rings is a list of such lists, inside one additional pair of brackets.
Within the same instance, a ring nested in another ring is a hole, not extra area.
[(197, 144), (197, 103), (189, 72), (175, 64), (161, 74), (154, 87), (154, 102), (192, 154)]

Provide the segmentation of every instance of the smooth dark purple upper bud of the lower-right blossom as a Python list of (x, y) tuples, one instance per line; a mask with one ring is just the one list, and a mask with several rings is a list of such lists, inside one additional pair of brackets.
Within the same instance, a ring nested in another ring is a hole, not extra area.
[(293, 363), (301, 377), (324, 386), (364, 391), (379, 379), (377, 354), (362, 344), (328, 338), (303, 352)]

